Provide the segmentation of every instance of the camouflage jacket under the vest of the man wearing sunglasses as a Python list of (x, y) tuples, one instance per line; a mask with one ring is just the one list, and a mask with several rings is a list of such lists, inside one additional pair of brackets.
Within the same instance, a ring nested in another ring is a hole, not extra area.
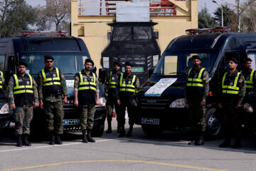
[[(45, 70), (48, 70), (47, 68), (44, 68)], [(60, 71), (60, 86), (61, 86), (61, 92), (63, 93), (64, 96), (68, 96), (68, 88), (65, 83), (65, 76), (63, 75), (63, 72), (58, 68)], [(58, 102), (62, 100), (62, 96), (55, 97), (54, 95), (50, 95), (48, 97), (43, 97), (43, 76), (41, 71), (38, 73), (38, 93), (39, 93), (39, 99), (40, 100), (46, 100), (50, 102)]]

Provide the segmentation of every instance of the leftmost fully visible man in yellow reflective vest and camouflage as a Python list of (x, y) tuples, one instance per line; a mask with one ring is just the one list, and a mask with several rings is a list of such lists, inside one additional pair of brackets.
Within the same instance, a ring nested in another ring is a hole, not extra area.
[[(33, 108), (39, 104), (36, 81), (33, 80), (30, 74), (26, 73), (27, 67), (26, 63), (18, 62), (18, 72), (11, 76), (7, 88), (9, 104), (14, 109), (16, 119), (15, 134), (17, 135), (18, 147), (22, 145), (31, 146), (31, 143), (28, 142), (30, 123), (33, 118)], [(21, 135), (23, 135), (23, 142)]]

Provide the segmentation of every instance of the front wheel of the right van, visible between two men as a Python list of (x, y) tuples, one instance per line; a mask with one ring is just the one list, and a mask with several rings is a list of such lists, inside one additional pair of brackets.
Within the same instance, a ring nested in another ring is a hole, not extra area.
[(219, 138), (221, 133), (222, 127), (216, 111), (216, 108), (206, 110), (206, 135), (210, 139)]

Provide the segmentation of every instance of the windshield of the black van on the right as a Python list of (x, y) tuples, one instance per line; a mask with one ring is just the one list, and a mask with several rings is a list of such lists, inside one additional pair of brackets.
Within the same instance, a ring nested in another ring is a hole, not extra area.
[(202, 58), (201, 66), (210, 72), (218, 57), (218, 51), (171, 51), (161, 56), (159, 63), (154, 69), (153, 75), (178, 76), (186, 75), (193, 67), (192, 56)]

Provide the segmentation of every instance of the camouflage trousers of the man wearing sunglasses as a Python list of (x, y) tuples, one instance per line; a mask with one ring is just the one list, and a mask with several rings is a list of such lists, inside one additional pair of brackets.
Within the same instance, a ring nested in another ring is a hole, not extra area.
[(43, 103), (43, 110), (46, 113), (46, 129), (57, 134), (63, 134), (63, 102), (45, 101)]

